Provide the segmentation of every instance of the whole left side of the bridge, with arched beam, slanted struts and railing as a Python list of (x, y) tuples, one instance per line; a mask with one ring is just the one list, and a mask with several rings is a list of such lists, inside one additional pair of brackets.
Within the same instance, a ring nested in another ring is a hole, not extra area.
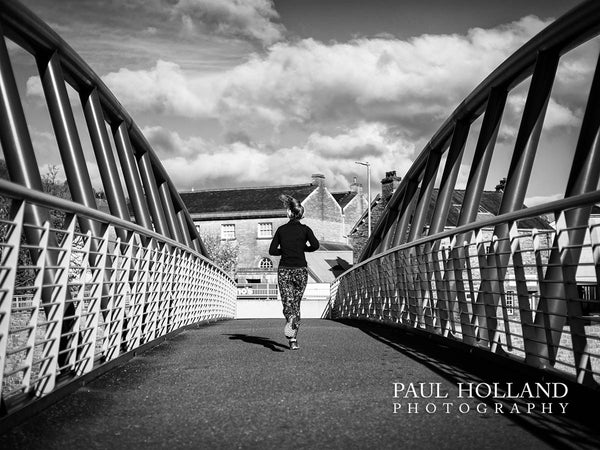
[[(10, 179), (0, 180), (2, 420), (167, 333), (234, 318), (236, 286), (206, 257), (138, 127), (73, 49), (13, 0), (0, 0), (0, 35), (0, 143)], [(7, 39), (35, 60), (72, 200), (42, 192), (43, 155)], [(110, 213), (98, 209), (68, 89), (79, 95)]]

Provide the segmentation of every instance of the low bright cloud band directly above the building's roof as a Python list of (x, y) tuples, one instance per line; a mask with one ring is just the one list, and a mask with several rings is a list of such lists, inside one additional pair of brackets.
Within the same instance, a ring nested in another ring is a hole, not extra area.
[(383, 124), (362, 124), (334, 135), (313, 133), (302, 145), (277, 149), (240, 141), (215, 144), (160, 128), (144, 133), (167, 171), (177, 174), (180, 189), (306, 183), (313, 173), (322, 173), (332, 189), (344, 190), (354, 176), (365, 179), (364, 168), (354, 163), (357, 157), (369, 160), (374, 174), (404, 173), (414, 152)]

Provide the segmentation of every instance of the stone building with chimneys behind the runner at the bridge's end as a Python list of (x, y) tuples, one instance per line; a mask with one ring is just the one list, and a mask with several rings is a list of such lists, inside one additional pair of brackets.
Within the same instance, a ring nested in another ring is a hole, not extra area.
[(362, 186), (354, 180), (347, 191), (331, 192), (321, 174), (310, 183), (254, 188), (181, 192), (200, 235), (217, 236), (238, 248), (235, 278), (238, 283), (275, 283), (279, 257), (269, 255), (275, 230), (288, 221), (279, 200), (291, 195), (305, 209), (303, 223), (310, 226), (321, 248), (307, 254), (309, 282), (332, 281), (352, 264), (347, 234), (366, 211)]

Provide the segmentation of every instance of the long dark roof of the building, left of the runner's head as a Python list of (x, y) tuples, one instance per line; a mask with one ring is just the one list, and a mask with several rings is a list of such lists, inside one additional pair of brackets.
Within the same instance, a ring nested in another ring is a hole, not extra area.
[(180, 192), (190, 214), (233, 213), (242, 211), (271, 211), (281, 209), (281, 194), (287, 194), (302, 202), (316, 189), (314, 184), (272, 186), (256, 188), (232, 188)]

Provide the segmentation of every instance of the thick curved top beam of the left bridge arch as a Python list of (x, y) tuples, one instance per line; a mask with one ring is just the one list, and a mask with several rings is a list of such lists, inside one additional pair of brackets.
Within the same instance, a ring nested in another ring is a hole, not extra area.
[(103, 106), (106, 121), (111, 125), (120, 123), (127, 125), (129, 138), (148, 153), (153, 169), (167, 183), (172, 198), (183, 211), (188, 224), (188, 231), (193, 235), (193, 238), (197, 239), (202, 252), (208, 254), (190, 213), (162, 162), (132, 117), (102, 79), (68, 43), (26, 6), (10, 0), (0, 0), (0, 5), (0, 18), (2, 19), (0, 23), (2, 23), (6, 36), (34, 54), (36, 52), (49, 54), (59, 52), (65, 80), (82, 90), (91, 91), (95, 88)]

